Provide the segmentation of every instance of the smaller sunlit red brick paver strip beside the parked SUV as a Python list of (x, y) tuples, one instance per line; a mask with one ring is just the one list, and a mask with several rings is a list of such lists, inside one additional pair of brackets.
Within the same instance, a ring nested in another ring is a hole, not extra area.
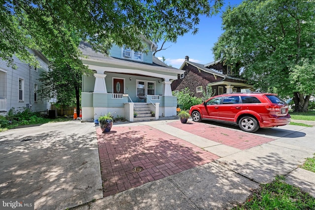
[(240, 150), (250, 149), (252, 147), (274, 141), (274, 139), (271, 138), (257, 136), (240, 130), (226, 129), (223, 127), (202, 122), (194, 122), (191, 120), (189, 120), (187, 124), (183, 124), (180, 121), (173, 121), (167, 124), (205, 139)]

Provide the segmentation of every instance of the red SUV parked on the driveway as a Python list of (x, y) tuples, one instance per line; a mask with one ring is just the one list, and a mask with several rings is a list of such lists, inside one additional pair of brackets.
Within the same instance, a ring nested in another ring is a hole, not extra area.
[(247, 132), (259, 128), (287, 125), (291, 121), (288, 105), (273, 93), (228, 93), (209, 98), (190, 107), (192, 120), (232, 122)]

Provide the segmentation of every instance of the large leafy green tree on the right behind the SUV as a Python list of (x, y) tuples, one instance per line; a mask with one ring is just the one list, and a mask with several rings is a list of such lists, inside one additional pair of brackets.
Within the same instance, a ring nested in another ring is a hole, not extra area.
[(241, 61), (242, 76), (256, 88), (293, 97), (295, 111), (305, 112), (315, 93), (314, 14), (309, 0), (245, 0), (228, 7), (215, 59)]

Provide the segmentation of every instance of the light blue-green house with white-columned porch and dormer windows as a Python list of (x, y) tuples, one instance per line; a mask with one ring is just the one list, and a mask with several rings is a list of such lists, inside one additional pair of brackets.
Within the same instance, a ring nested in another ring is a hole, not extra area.
[(108, 112), (129, 121), (176, 115), (177, 97), (172, 95), (171, 83), (184, 71), (158, 60), (152, 55), (158, 46), (144, 42), (148, 53), (114, 45), (110, 56), (95, 52), (87, 43), (80, 44), (83, 63), (95, 72), (83, 76), (82, 120), (95, 120)]

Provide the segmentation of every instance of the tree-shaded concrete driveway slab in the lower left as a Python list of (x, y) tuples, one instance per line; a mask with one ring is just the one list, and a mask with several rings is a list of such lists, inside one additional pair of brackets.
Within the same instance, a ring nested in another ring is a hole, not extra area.
[(62, 210), (102, 198), (94, 123), (47, 123), (0, 133), (0, 198)]

